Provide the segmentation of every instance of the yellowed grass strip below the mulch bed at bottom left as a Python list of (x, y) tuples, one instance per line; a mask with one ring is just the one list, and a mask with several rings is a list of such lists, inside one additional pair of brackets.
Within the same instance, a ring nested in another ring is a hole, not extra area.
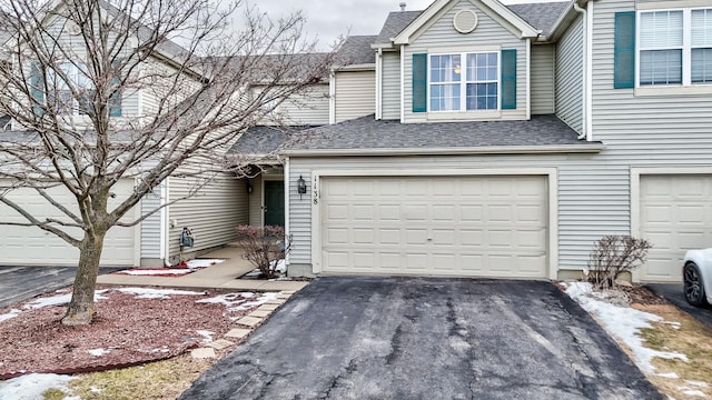
[(184, 354), (140, 367), (79, 374), (69, 388), (82, 400), (176, 399), (211, 363)]

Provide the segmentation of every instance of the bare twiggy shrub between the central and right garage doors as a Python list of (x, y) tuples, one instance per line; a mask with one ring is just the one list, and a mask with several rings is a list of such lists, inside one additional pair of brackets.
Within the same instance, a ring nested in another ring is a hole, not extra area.
[(651, 243), (630, 236), (606, 234), (595, 242), (589, 254), (589, 281), (597, 289), (609, 289), (623, 272), (632, 272), (645, 262)]

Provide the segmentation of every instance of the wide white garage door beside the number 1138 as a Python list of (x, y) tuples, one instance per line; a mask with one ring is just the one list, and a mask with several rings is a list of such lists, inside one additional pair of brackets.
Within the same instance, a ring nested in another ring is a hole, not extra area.
[(545, 177), (322, 179), (324, 272), (547, 276)]

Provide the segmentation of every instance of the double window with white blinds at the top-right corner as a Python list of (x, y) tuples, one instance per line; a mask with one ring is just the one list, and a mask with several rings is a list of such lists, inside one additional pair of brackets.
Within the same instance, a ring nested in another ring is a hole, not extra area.
[(712, 83), (712, 9), (639, 17), (639, 84)]

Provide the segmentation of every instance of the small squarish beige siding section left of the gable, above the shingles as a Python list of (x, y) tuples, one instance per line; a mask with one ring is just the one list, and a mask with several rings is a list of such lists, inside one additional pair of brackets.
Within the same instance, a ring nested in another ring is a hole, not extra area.
[(369, 116), (375, 112), (375, 71), (336, 72), (335, 84), (335, 122)]

